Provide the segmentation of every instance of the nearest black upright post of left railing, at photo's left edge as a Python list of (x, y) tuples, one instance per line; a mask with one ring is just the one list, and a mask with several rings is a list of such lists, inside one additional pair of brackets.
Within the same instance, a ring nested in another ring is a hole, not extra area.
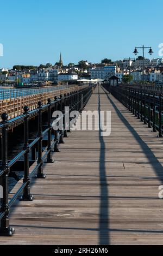
[(2, 162), (1, 169), (4, 170), (4, 174), (1, 177), (3, 187), (3, 199), (0, 213), (4, 213), (1, 219), (0, 236), (12, 236), (14, 229), (9, 224), (9, 198), (8, 198), (8, 114), (2, 114)]

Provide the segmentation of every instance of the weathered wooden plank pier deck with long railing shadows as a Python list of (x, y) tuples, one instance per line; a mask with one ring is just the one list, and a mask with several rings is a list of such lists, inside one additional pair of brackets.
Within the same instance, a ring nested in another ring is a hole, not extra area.
[(86, 110), (110, 110), (111, 135), (69, 134), (46, 180), (32, 180), (35, 200), (12, 207), (15, 234), (1, 245), (162, 245), (163, 141), (99, 92)]

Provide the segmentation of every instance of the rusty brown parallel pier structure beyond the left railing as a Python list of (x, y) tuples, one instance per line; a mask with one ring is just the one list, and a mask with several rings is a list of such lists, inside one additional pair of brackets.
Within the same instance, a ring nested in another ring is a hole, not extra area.
[[(0, 115), (2, 113), (8, 114), (8, 120), (20, 116), (23, 114), (24, 106), (28, 106), (29, 110), (35, 110), (37, 108), (37, 103), (41, 102), (42, 105), (47, 104), (48, 98), (53, 101), (55, 97), (64, 95), (65, 93), (70, 93), (78, 90), (82, 90), (85, 86), (52, 86), (48, 88), (41, 89), (20, 89), (13, 93), (8, 90), (8, 92), (0, 92)], [(12, 91), (12, 89), (11, 89)], [(2, 95), (1, 95), (2, 94)], [(1, 118), (0, 118), (0, 121)]]

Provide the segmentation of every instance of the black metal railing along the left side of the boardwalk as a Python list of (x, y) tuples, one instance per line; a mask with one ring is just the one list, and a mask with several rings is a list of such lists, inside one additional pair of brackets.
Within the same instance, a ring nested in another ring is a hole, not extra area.
[[(48, 99), (47, 105), (38, 103), (38, 108), (30, 111), (28, 106), (24, 106), (24, 114), (13, 118), (8, 121), (8, 115), (2, 114), (2, 122), (0, 123), (0, 129), (2, 134), (2, 161), (0, 166), (0, 184), (3, 187), (3, 198), (1, 199), (1, 210), (0, 210), (0, 235), (1, 236), (12, 236), (14, 229), (10, 227), (9, 224), (9, 209), (15, 203), (16, 199), (22, 195), (21, 200), (32, 201), (34, 199), (33, 195), (30, 194), (30, 180), (36, 174), (36, 178), (46, 178), (46, 174), (43, 172), (43, 163), (53, 163), (52, 151), (59, 152), (59, 144), (64, 143), (64, 137), (67, 137), (67, 132), (71, 132), (70, 129), (66, 130), (67, 127), (63, 126), (61, 129), (54, 131), (54, 139), (52, 140), (52, 110), (61, 110), (63, 116), (65, 117), (64, 109), (65, 106), (69, 106), (70, 111), (78, 110), (82, 112), (86, 103), (92, 94), (92, 86), (83, 88), (82, 90), (60, 95), (60, 97), (55, 97), (54, 100)], [(42, 130), (42, 112), (47, 111), (47, 128)], [(29, 118), (36, 114), (38, 134), (36, 138), (29, 143)], [(22, 121), (24, 123), (24, 147), (17, 156), (10, 162), (8, 160), (8, 129), (10, 124), (15, 121)], [(54, 122), (58, 122), (58, 118)], [(47, 135), (47, 147), (43, 150), (42, 140), (43, 137)], [(29, 152), (37, 144), (38, 154), (37, 162), (32, 171), (29, 171)], [(24, 157), (24, 177), (21, 187), (17, 190), (14, 196), (9, 200), (9, 189), (8, 189), (8, 178), (10, 168), (18, 161), (20, 158)]]

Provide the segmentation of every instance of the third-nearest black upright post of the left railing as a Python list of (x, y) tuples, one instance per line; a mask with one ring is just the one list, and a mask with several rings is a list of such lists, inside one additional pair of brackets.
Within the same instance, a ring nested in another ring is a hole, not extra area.
[(43, 173), (43, 160), (42, 160), (42, 104), (41, 102), (38, 102), (38, 107), (39, 107), (39, 115), (38, 115), (38, 137), (39, 137), (39, 142), (38, 142), (38, 160), (37, 164), (39, 164), (39, 168), (37, 171), (36, 178), (46, 178), (46, 174)]

